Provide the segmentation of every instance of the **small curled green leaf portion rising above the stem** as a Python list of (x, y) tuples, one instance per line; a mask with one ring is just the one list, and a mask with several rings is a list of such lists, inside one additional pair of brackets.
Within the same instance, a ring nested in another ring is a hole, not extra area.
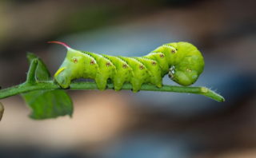
[(38, 69), (36, 71), (36, 78), (38, 81), (50, 81), (50, 72), (47, 69), (45, 63), (43, 63), (43, 61), (36, 56), (34, 53), (26, 53), (26, 58), (28, 59), (28, 61), (31, 62), (34, 60), (34, 58), (38, 59)]

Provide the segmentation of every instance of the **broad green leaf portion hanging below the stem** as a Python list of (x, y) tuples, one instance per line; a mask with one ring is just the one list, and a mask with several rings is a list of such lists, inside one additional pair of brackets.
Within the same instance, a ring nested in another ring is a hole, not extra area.
[(73, 104), (70, 96), (63, 90), (33, 91), (22, 94), (35, 120), (56, 118), (69, 115), (72, 117)]

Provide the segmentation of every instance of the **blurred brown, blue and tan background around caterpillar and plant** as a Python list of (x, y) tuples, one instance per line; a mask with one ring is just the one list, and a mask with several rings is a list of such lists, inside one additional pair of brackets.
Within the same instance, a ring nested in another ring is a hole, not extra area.
[[(182, 93), (68, 91), (73, 118), (31, 120), (19, 96), (2, 100), (0, 158), (256, 157), (256, 1), (0, 1), (0, 85), (26, 81), (26, 52), (53, 75), (74, 49), (142, 56), (189, 41), (206, 66), (195, 86), (226, 102)], [(166, 85), (175, 85), (168, 77)]]

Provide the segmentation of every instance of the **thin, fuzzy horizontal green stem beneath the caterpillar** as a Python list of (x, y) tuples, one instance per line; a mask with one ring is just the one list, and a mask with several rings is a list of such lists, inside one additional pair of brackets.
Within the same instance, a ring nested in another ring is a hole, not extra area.
[[(107, 84), (107, 89), (113, 89), (113, 84)], [(8, 89), (0, 90), (0, 99), (18, 95), (20, 93), (27, 93), (34, 90), (54, 90), (61, 89), (59, 85), (54, 81), (36, 81), (33, 85), (26, 82), (22, 85), (16, 85)], [(68, 90), (94, 90), (98, 89), (98, 86), (94, 82), (72, 82), (70, 83), (70, 89)], [(122, 86), (122, 90), (130, 90), (132, 85), (125, 83)], [(155, 85), (143, 84), (142, 91), (156, 91), (156, 92), (174, 92), (174, 93), (194, 93), (201, 94), (206, 97), (210, 97), (216, 101), (225, 101), (224, 98), (217, 93), (214, 93), (210, 89), (205, 87), (183, 87), (175, 85), (163, 85), (161, 89), (158, 89)]]

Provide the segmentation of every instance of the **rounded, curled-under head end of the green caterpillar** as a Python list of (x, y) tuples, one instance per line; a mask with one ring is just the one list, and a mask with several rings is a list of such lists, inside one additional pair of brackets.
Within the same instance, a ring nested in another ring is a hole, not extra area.
[(187, 42), (170, 43), (168, 64), (169, 77), (179, 85), (192, 85), (204, 69), (204, 60), (199, 50)]

